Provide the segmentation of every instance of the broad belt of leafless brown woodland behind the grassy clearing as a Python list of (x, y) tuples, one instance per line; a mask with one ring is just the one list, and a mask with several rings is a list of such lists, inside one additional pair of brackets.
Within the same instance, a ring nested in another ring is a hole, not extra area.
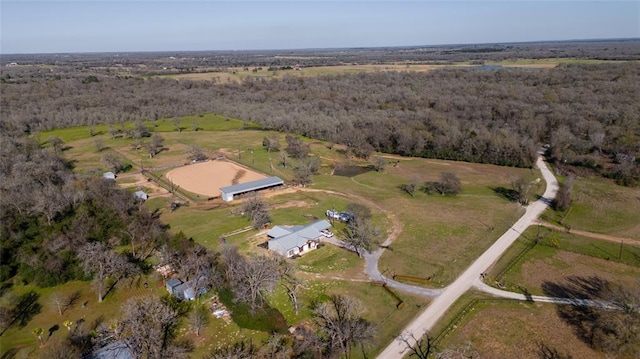
[(442, 69), (239, 84), (99, 76), (2, 86), (2, 129), (32, 132), (214, 112), (371, 151), (508, 166), (539, 147), (561, 165), (640, 179), (636, 63)]

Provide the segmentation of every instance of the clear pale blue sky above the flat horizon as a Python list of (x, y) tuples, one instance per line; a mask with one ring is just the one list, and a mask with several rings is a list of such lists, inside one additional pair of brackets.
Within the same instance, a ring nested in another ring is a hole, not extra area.
[(640, 1), (5, 1), (0, 54), (640, 38)]

